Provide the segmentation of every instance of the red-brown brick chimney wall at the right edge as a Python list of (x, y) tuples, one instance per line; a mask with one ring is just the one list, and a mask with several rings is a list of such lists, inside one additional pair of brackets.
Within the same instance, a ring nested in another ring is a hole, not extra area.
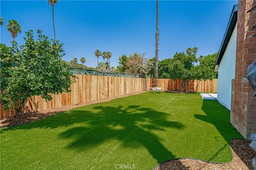
[(254, 0), (238, 1), (236, 71), (232, 81), (230, 122), (245, 137), (256, 133), (256, 98), (246, 79), (247, 66), (256, 59), (256, 11), (247, 13), (256, 5)]

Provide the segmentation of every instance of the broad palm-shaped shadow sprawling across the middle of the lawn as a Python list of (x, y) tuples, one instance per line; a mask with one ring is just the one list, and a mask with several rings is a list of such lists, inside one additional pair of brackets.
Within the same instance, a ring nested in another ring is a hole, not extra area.
[[(157, 163), (175, 158), (172, 152), (162, 145), (161, 139), (153, 133), (153, 130), (156, 132), (165, 131), (167, 128), (184, 127), (179, 122), (168, 121), (167, 113), (137, 105), (95, 106), (91, 111), (83, 109), (84, 107), (77, 108), (44, 120), (4, 130), (63, 126), (66, 127), (63, 129), (65, 131), (59, 136), (63, 139), (71, 139), (71, 143), (67, 146), (69, 149), (90, 150), (103, 142), (119, 140), (122, 142), (122, 147), (145, 147)], [(117, 146), (109, 147), (115, 149)]]

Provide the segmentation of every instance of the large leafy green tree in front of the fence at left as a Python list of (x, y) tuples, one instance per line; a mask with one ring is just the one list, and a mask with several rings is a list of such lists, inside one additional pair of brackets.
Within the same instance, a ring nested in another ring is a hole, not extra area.
[(63, 44), (49, 40), (41, 30), (34, 39), (33, 31), (26, 32), (25, 45), (12, 42), (12, 47), (1, 44), (0, 84), (4, 109), (15, 108), (19, 117), (23, 104), (31, 96), (51, 100), (51, 94), (70, 91), (75, 76), (62, 60)]

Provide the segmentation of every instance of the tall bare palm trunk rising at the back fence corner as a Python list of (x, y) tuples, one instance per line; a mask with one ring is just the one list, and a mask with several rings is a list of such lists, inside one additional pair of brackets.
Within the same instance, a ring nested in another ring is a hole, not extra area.
[(158, 30), (158, 0), (156, 0), (156, 62), (155, 62), (155, 76), (154, 76), (154, 87), (157, 87), (158, 80), (158, 41), (159, 41), (159, 30)]

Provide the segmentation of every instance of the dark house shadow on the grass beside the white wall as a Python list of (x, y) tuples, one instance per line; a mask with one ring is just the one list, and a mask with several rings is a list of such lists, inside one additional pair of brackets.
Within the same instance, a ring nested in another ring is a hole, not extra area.
[(244, 139), (242, 135), (231, 125), (230, 123), (230, 111), (224, 106), (220, 105), (218, 101), (214, 100), (203, 100), (202, 110), (206, 115), (195, 114), (195, 118), (199, 120), (211, 123), (222, 135), (224, 140), (219, 137), (214, 137), (213, 140), (218, 140), (220, 143), (223, 143), (222, 147), (217, 151), (209, 161), (213, 160), (218, 156), (219, 152), (223, 151), (231, 139), (234, 136)]

